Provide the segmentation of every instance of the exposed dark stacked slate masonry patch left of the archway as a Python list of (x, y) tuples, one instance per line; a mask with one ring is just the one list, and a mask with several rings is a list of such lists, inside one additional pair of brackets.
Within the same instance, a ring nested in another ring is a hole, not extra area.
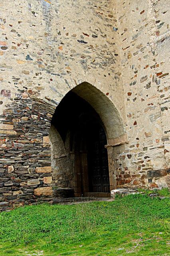
[(49, 128), (55, 107), (30, 95), (0, 116), (0, 210), (52, 200)]

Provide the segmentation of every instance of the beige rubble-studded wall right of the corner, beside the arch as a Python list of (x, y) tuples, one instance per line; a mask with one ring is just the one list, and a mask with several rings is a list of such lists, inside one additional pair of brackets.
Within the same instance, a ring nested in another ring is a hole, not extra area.
[(169, 1), (119, 1), (129, 144), (115, 148), (117, 184), (170, 186)]

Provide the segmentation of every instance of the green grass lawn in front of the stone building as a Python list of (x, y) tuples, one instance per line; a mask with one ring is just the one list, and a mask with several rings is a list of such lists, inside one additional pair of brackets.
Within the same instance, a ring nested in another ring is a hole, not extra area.
[(25, 206), (0, 214), (0, 256), (170, 256), (170, 199)]

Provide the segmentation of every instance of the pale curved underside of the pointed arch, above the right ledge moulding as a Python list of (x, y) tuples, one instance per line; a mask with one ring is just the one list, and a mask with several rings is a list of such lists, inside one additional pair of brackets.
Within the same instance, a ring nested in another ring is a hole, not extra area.
[(71, 91), (86, 100), (99, 114), (107, 134), (108, 144), (116, 146), (117, 143), (121, 144), (119, 141), (127, 143), (122, 117), (114, 103), (101, 90), (88, 82), (82, 82)]

